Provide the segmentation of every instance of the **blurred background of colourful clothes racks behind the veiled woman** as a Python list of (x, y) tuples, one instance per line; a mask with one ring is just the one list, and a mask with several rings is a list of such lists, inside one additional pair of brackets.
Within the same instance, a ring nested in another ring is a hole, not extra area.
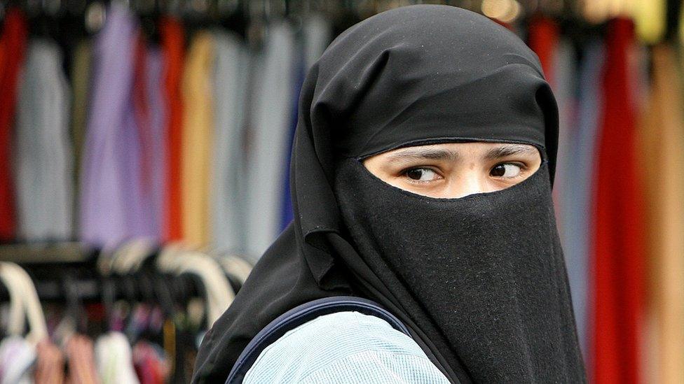
[(306, 71), (411, 3), (483, 13), (542, 62), (589, 382), (684, 383), (680, 0), (0, 1), (0, 381), (189, 382), (292, 220)]

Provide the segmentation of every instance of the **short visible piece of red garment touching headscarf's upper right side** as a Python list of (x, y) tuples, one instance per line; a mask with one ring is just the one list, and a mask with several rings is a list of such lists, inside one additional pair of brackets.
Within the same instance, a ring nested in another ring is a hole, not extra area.
[(528, 45), (539, 57), (544, 70), (544, 77), (553, 87), (554, 82), (554, 50), (558, 45), (560, 28), (554, 20), (542, 15), (535, 15), (529, 26)]

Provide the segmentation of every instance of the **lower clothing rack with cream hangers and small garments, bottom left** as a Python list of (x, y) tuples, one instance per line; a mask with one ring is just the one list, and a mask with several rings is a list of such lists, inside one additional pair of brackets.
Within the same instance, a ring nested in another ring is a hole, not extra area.
[[(236, 255), (149, 239), (107, 249), (2, 245), (0, 305), (8, 316), (0, 327), (0, 375), (60, 382), (44, 378), (48, 364), (62, 378), (96, 378), (79, 383), (188, 383), (204, 332), (250, 270)], [(27, 356), (19, 372), (6, 364), (17, 349)], [(62, 357), (55, 362), (54, 355)]]

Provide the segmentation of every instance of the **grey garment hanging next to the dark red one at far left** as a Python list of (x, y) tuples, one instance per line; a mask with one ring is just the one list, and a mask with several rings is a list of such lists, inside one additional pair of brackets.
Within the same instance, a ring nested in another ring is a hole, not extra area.
[(17, 236), (69, 240), (74, 166), (69, 138), (69, 85), (53, 41), (29, 43), (15, 127)]

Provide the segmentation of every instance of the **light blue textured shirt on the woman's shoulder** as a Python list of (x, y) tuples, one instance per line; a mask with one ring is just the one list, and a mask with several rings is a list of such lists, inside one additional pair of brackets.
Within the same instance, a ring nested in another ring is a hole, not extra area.
[(375, 316), (337, 312), (268, 346), (245, 375), (254, 383), (449, 383), (409, 336)]

